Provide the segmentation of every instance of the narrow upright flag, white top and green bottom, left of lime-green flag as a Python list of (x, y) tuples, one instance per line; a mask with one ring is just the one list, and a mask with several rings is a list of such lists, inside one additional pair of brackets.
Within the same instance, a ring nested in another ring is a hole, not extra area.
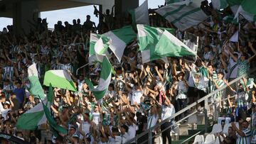
[(41, 99), (44, 99), (45, 94), (38, 78), (36, 63), (33, 63), (33, 65), (28, 67), (28, 79), (30, 82), (30, 87), (28, 88), (28, 91), (36, 98), (41, 97)]

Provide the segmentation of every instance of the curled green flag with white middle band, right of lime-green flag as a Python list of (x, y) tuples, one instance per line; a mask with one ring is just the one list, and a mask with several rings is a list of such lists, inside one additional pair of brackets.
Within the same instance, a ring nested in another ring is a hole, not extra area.
[(100, 81), (98, 86), (94, 89), (92, 83), (89, 79), (86, 79), (85, 82), (88, 84), (92, 94), (94, 94), (95, 99), (99, 101), (102, 99), (103, 96), (105, 96), (107, 89), (110, 85), (111, 81), (111, 70), (112, 65), (110, 64), (110, 61), (107, 59), (107, 57), (103, 58), (102, 61), (102, 68), (100, 72)]

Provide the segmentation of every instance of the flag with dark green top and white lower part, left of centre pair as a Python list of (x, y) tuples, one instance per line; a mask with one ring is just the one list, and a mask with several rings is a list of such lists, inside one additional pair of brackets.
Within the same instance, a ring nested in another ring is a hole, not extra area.
[(125, 26), (123, 28), (104, 33), (103, 35), (109, 38), (110, 50), (112, 50), (119, 62), (121, 62), (122, 55), (124, 54), (124, 48), (126, 48), (127, 44), (137, 37), (132, 26)]

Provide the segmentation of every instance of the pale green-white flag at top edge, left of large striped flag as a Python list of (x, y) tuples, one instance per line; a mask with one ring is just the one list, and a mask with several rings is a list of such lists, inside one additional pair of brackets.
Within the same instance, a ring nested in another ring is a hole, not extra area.
[(148, 1), (144, 1), (142, 5), (129, 11), (132, 15), (132, 25), (136, 27), (136, 24), (147, 24), (149, 25), (149, 8)]

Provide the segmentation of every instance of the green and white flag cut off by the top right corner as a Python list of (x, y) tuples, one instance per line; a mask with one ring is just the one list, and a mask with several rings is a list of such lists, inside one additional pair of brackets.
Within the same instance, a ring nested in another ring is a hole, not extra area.
[(235, 18), (238, 18), (239, 13), (242, 14), (247, 21), (256, 21), (256, 1), (255, 0), (244, 0), (235, 13)]

